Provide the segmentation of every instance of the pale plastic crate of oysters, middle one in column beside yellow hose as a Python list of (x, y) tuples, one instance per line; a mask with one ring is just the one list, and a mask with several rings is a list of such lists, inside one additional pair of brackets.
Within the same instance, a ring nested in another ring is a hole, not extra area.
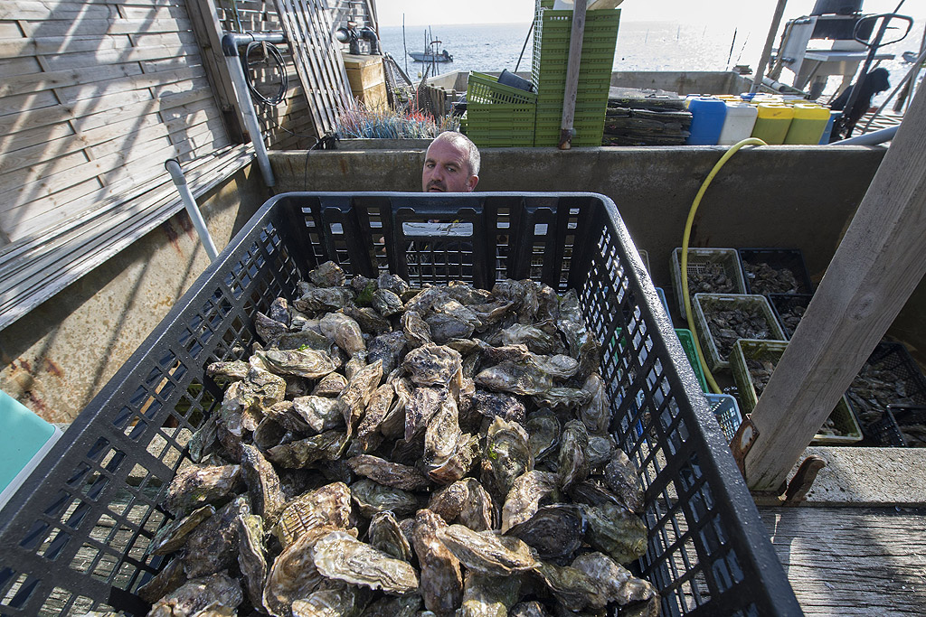
[(765, 296), (696, 293), (692, 310), (698, 341), (711, 371), (730, 368), (730, 354), (738, 339), (784, 340)]

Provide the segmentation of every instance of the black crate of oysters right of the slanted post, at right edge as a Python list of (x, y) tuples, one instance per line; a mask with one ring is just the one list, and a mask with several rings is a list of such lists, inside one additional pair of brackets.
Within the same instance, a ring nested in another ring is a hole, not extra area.
[(866, 438), (879, 445), (901, 446), (907, 439), (903, 427), (888, 417), (888, 406), (926, 407), (926, 376), (903, 343), (882, 340), (845, 394)]

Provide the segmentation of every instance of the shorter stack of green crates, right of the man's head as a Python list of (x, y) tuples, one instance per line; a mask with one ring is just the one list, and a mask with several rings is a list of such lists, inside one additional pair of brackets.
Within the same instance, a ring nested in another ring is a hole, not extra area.
[(491, 75), (469, 73), (467, 136), (480, 147), (533, 145), (537, 95), (498, 83)]

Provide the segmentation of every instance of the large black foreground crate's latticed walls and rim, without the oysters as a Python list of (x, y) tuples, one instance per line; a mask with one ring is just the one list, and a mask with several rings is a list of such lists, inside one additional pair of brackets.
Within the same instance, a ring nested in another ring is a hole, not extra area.
[[(286, 193), (264, 204), (0, 512), (0, 612), (144, 613), (131, 591), (186, 441), (221, 391), (206, 364), (243, 359), (251, 315), (333, 259), (413, 285), (534, 278), (576, 290), (605, 344), (612, 430), (645, 490), (634, 565), (665, 615), (801, 611), (614, 204), (591, 193)], [(638, 426), (642, 429), (638, 430)]]

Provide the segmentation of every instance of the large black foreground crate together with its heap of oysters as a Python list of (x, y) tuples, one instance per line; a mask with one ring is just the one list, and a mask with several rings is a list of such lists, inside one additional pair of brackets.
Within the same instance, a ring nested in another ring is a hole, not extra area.
[(0, 611), (800, 614), (642, 271), (600, 195), (274, 197), (0, 511)]

